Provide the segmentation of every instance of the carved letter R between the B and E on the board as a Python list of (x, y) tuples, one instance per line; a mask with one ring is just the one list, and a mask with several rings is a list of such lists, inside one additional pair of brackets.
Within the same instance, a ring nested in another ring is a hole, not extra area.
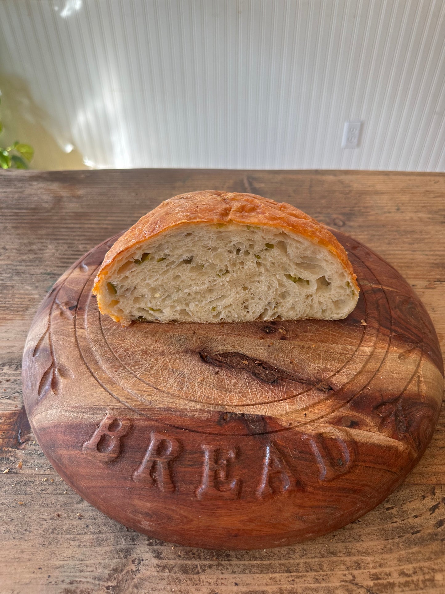
[(157, 488), (161, 492), (175, 490), (171, 475), (171, 461), (179, 456), (180, 445), (173, 437), (152, 431), (150, 445), (141, 465), (133, 473), (134, 481)]

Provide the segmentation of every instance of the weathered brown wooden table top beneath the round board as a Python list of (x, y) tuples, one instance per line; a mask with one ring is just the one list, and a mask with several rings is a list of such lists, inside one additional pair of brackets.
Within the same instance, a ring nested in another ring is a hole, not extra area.
[(209, 551), (126, 529), (63, 483), (27, 423), (21, 356), (31, 320), (75, 260), (161, 200), (196, 189), (294, 204), (364, 242), (414, 287), (445, 349), (445, 175), (137, 169), (0, 172), (0, 593), (445, 592), (445, 410), (406, 481), (314, 541)]

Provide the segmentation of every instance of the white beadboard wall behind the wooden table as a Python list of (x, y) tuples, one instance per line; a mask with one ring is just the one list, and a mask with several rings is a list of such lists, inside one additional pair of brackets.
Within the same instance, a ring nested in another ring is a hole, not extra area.
[(0, 2), (1, 74), (97, 168), (443, 171), (444, 54), (444, 0)]

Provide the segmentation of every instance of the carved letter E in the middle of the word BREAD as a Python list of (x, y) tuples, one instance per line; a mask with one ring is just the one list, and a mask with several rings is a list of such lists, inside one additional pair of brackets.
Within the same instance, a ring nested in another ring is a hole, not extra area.
[(204, 467), (202, 481), (196, 497), (236, 499), (240, 495), (241, 481), (231, 478), (231, 467), (237, 458), (237, 448), (226, 450), (216, 445), (202, 445)]

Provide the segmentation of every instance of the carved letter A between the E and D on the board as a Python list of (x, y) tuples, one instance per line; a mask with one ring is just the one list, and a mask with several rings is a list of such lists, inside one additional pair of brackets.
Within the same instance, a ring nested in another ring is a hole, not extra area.
[(297, 480), (284, 457), (274, 444), (267, 444), (263, 453), (261, 478), (256, 489), (256, 497), (284, 495), (286, 492), (294, 491), (295, 488), (297, 488)]

